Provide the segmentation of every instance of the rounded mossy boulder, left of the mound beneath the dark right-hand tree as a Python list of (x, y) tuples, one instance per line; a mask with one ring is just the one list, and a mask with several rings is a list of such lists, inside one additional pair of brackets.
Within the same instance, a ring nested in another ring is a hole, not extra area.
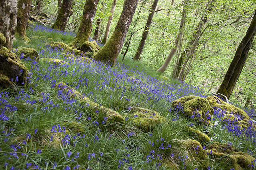
[(178, 105), (183, 106), (184, 115), (202, 123), (210, 124), (211, 115), (213, 115), (214, 110), (206, 98), (185, 96), (172, 102), (172, 107), (176, 108)]

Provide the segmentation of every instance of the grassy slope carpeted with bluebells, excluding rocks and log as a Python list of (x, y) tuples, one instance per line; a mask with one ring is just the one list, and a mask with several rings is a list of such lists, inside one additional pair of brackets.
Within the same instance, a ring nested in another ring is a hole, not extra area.
[[(238, 151), (256, 157), (255, 131), (240, 132), (224, 123), (205, 127), (171, 109), (174, 100), (188, 95), (206, 97), (204, 91), (164, 80), (143, 63), (128, 58), (122, 62), (122, 56), (112, 68), (99, 62), (79, 63), (64, 57), (62, 49), (49, 47), (52, 41), (70, 43), (73, 33), (35, 25), (27, 30), (27, 36), (30, 42), (17, 38), (13, 47), (32, 47), (40, 58), (69, 64), (21, 59), (32, 73), (27, 86), (17, 87), (18, 91), (0, 89), (0, 168), (194, 170), (199, 166), (184, 147), (186, 141), (194, 139), (184, 131), (188, 125), (204, 131), (210, 143), (229, 142)], [(60, 82), (118, 112), (125, 121), (106, 117), (99, 107), (90, 107), (54, 88)], [(132, 120), (140, 108), (157, 111), (165, 117), (164, 123), (152, 125), (149, 131), (138, 129)], [(213, 123), (221, 121), (219, 113), (215, 111)], [(225, 158), (208, 158), (208, 169), (225, 169)]]

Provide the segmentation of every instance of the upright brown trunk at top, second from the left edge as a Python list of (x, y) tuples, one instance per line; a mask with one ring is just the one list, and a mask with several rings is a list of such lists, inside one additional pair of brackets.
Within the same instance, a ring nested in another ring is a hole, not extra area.
[(31, 8), (31, 3), (31, 0), (18, 1), (16, 35), (22, 37), (26, 41), (29, 41), (29, 38), (26, 36), (26, 27), (28, 23), (28, 16)]

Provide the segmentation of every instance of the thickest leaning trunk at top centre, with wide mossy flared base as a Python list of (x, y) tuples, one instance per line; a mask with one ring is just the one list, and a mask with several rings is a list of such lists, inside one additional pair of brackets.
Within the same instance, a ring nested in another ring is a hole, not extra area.
[(110, 63), (112, 66), (116, 63), (137, 5), (138, 0), (124, 1), (124, 7), (116, 28), (106, 45), (96, 54), (95, 60)]

